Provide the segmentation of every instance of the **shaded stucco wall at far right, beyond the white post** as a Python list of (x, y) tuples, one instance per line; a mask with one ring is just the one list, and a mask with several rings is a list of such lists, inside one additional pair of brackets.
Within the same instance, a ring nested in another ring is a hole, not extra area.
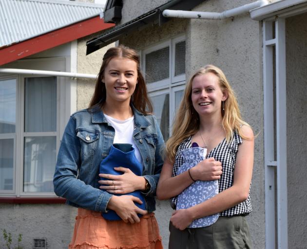
[(307, 240), (307, 15), (286, 19), (288, 248)]

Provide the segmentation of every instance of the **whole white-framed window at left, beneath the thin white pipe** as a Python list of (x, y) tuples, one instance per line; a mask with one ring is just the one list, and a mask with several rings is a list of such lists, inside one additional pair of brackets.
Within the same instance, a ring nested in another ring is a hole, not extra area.
[[(65, 70), (64, 60), (44, 63), (49, 70)], [(67, 88), (65, 80), (0, 75), (0, 196), (55, 196), (53, 175), (67, 122), (65, 92), (60, 94)]]

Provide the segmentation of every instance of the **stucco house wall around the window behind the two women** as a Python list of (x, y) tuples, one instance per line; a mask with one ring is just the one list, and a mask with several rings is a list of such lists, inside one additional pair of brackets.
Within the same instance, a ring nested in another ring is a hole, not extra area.
[[(208, 0), (193, 10), (222, 12), (249, 2), (252, 1)], [(162, 26), (154, 25), (141, 32), (125, 36), (120, 43), (141, 50), (179, 34), (186, 35), (187, 79), (193, 71), (206, 64), (220, 67), (236, 92), (243, 118), (253, 127), (255, 134), (259, 133), (255, 139), (251, 185), (253, 212), (248, 216), (248, 220), (254, 248), (263, 249), (265, 248), (265, 212), (260, 23), (251, 20), (249, 14), (226, 20), (173, 18)], [(165, 248), (168, 245), (168, 221), (171, 212), (168, 202), (158, 201), (155, 213)]]

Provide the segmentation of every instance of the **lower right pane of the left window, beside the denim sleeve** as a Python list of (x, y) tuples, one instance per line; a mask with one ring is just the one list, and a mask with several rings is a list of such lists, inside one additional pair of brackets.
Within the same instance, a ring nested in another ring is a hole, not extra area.
[(24, 139), (24, 192), (53, 192), (56, 137)]

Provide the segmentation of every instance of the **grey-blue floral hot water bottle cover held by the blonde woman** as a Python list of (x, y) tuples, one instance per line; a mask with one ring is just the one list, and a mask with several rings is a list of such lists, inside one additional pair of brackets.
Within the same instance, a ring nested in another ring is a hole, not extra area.
[[(196, 146), (195, 146), (196, 145)], [(192, 144), (192, 148), (184, 149), (180, 152), (184, 159), (184, 164), (180, 166), (177, 174), (181, 174), (190, 168), (194, 167), (197, 163), (206, 158), (207, 149), (198, 147), (197, 143)], [(187, 209), (202, 203), (211, 197), (218, 194), (218, 181), (200, 181), (197, 180), (186, 188), (181, 194), (178, 195), (176, 210)], [(190, 224), (189, 228), (201, 228), (212, 225), (217, 221), (219, 214), (202, 217)]]

